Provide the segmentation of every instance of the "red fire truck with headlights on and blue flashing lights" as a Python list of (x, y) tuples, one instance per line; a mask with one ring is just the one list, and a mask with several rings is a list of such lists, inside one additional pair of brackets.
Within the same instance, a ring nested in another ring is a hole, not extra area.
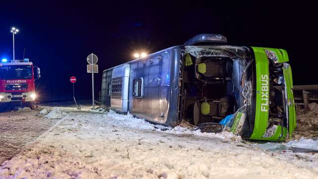
[(0, 109), (23, 106), (34, 109), (37, 99), (35, 80), (40, 79), (40, 68), (24, 60), (2, 59), (0, 63)]

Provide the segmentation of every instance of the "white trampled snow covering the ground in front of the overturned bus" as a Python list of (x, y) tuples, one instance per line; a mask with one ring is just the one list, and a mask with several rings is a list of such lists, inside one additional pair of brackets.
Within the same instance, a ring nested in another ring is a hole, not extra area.
[[(48, 108), (62, 118), (25, 152), (0, 167), (0, 178), (318, 178), (318, 154), (269, 151), (239, 136), (177, 126), (160, 131), (132, 115)], [(313, 141), (290, 141), (286, 147)]]

